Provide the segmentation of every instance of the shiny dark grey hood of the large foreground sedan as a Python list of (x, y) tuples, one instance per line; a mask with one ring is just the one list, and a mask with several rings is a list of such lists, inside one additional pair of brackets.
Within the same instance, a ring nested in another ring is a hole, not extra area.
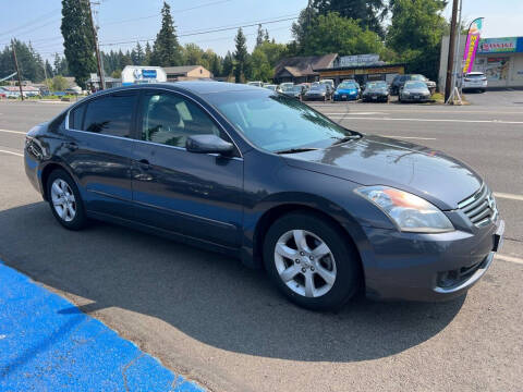
[(441, 151), (380, 136), (364, 135), (343, 145), (283, 157), (292, 167), (413, 193), (442, 210), (458, 208), (483, 183), (471, 168)]

